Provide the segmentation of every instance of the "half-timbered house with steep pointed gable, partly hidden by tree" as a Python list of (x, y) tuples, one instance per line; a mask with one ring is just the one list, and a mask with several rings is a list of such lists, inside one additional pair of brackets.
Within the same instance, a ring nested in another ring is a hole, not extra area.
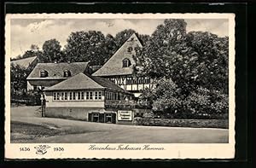
[(140, 96), (142, 90), (146, 87), (152, 87), (150, 78), (137, 77), (135, 73), (135, 68), (138, 68), (136, 50), (142, 47), (143, 45), (137, 35), (135, 33), (132, 34), (92, 76), (108, 78), (122, 89), (133, 93), (136, 97)]

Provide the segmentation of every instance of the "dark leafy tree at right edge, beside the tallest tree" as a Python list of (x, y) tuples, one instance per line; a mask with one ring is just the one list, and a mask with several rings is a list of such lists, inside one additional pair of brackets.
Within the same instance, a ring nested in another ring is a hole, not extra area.
[(228, 93), (229, 38), (210, 32), (189, 32), (188, 45), (194, 50), (196, 81), (209, 90)]

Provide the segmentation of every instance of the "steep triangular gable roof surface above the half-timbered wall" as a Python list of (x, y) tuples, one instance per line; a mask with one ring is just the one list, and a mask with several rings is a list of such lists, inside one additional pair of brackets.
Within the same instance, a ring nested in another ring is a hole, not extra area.
[[(142, 43), (133, 33), (128, 40), (114, 53), (114, 55), (92, 76), (115, 76), (115, 75), (130, 75), (133, 73), (133, 67), (136, 66), (136, 61), (132, 55), (136, 55), (135, 47), (143, 47)], [(128, 52), (131, 47), (132, 51)], [(123, 60), (128, 58), (131, 61), (130, 67), (123, 67)]]

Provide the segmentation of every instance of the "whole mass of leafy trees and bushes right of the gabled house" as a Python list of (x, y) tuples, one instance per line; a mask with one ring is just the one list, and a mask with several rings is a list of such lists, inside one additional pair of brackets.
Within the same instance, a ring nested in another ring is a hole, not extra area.
[(228, 41), (210, 32), (186, 33), (184, 20), (165, 20), (137, 50), (143, 66), (138, 75), (163, 83), (145, 90), (140, 100), (162, 113), (227, 113)]

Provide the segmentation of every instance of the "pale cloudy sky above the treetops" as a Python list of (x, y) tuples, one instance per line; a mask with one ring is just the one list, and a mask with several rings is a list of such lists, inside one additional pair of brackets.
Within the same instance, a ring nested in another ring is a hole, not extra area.
[[(212, 32), (218, 37), (229, 35), (229, 21), (224, 19), (186, 19), (187, 32)], [(55, 38), (62, 48), (71, 32), (101, 31), (115, 36), (125, 29), (134, 29), (139, 34), (151, 35), (162, 24), (162, 19), (12, 19), (11, 20), (11, 57), (23, 55), (32, 44), (39, 49), (46, 40)]]

